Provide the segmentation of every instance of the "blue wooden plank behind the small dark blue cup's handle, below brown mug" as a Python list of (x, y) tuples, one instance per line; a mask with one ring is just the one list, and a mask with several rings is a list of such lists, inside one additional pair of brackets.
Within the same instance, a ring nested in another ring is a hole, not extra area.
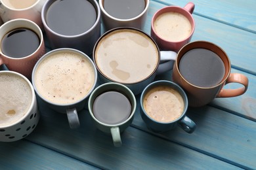
[(208, 106), (189, 108), (187, 115), (197, 124), (192, 134), (179, 127), (165, 133), (153, 133), (147, 129), (139, 114), (135, 114), (133, 127), (243, 169), (256, 168), (255, 122)]

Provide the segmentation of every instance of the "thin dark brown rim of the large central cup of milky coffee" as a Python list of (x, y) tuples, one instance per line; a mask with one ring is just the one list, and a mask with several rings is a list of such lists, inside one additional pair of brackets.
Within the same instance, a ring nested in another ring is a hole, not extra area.
[[(95, 54), (95, 52), (96, 52), (96, 48), (97, 48), (98, 44), (100, 43), (100, 41), (102, 39), (104, 39), (104, 37), (106, 37), (108, 34), (114, 32), (114, 31), (119, 31), (119, 30), (124, 30), (124, 29), (132, 30), (132, 31), (137, 31), (139, 33), (142, 33), (143, 35), (148, 37), (148, 39), (150, 39), (154, 43), (154, 45), (156, 46), (156, 50), (158, 51), (157, 52), (158, 53), (158, 63), (156, 63), (156, 67), (154, 68), (152, 73), (150, 73), (150, 75), (146, 76), (145, 78), (143, 78), (141, 80), (138, 80), (137, 82), (118, 82), (117, 80), (113, 80), (112, 78), (109, 78), (104, 73), (102, 73), (102, 71), (100, 70), (100, 68), (98, 67), (97, 62), (96, 62), (96, 54)], [(144, 80), (147, 80), (148, 78), (150, 78), (150, 76), (154, 75), (154, 73), (156, 73), (156, 71), (158, 69), (158, 66), (160, 65), (160, 57), (161, 57), (160, 56), (160, 49), (158, 47), (158, 44), (156, 44), (156, 41), (154, 41), (154, 39), (152, 39), (152, 37), (150, 35), (148, 35), (144, 31), (142, 31), (140, 29), (137, 29), (135, 27), (116, 27), (114, 29), (110, 29), (109, 31), (106, 31), (106, 33), (104, 33), (103, 35), (100, 36), (100, 38), (96, 41), (95, 46), (93, 48), (93, 61), (95, 63), (95, 67), (98, 70), (98, 72), (100, 73), (100, 75), (104, 76), (104, 78), (106, 78), (107, 80), (110, 80), (111, 82), (117, 82), (117, 83), (121, 83), (121, 84), (125, 84), (125, 85), (131, 85), (131, 84), (137, 84), (139, 82), (143, 82)]]

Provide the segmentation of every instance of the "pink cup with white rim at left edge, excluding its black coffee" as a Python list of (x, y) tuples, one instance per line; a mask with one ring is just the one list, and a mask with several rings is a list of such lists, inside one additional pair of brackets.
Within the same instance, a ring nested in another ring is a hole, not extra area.
[(3, 37), (9, 33), (9, 31), (21, 27), (31, 29), (37, 34), (40, 41), (37, 50), (35, 50), (35, 52), (29, 56), (25, 56), (23, 58), (12, 58), (3, 54), (0, 48), (0, 65), (5, 64), (9, 70), (16, 71), (31, 80), (33, 66), (37, 60), (41, 58), (43, 54), (45, 54), (45, 42), (43, 40), (43, 33), (40, 27), (34, 22), (26, 19), (10, 20), (9, 22), (5, 22), (5, 24), (1, 25), (0, 27), (0, 41), (2, 41)]

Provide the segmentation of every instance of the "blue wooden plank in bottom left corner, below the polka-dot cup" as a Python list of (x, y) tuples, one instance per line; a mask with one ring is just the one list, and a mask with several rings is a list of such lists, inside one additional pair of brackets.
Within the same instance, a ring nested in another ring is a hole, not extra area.
[(0, 169), (96, 169), (26, 140), (0, 144)]

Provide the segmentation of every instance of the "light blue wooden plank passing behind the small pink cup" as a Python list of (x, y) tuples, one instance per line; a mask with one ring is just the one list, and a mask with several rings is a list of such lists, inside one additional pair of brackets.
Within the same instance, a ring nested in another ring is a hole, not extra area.
[[(150, 2), (148, 18), (143, 28), (146, 33), (150, 34), (151, 18), (154, 13), (165, 6), (155, 1)], [(230, 27), (230, 25), (209, 20), (197, 14), (193, 14), (193, 17), (196, 22), (196, 29), (191, 41), (210, 41), (221, 46), (228, 54), (232, 67), (256, 75), (255, 65), (252, 64), (256, 63), (255, 33)]]

